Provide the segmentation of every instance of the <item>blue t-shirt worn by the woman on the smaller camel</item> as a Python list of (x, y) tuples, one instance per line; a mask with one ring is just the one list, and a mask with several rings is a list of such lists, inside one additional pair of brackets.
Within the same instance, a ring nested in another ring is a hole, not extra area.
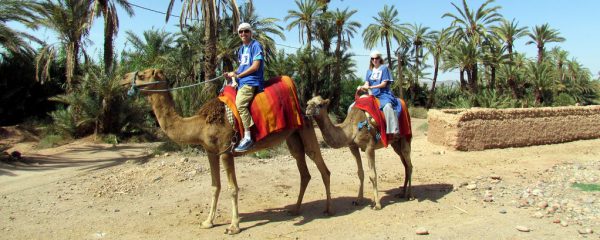
[(379, 85), (384, 81), (388, 81), (385, 85), (385, 88), (373, 88), (371, 92), (377, 99), (379, 99), (380, 109), (383, 109), (385, 104), (391, 103), (392, 108), (394, 108), (394, 112), (399, 116), (400, 111), (402, 111), (402, 105), (400, 101), (394, 96), (390, 86), (394, 79), (392, 79), (392, 75), (388, 70), (387, 66), (381, 65), (379, 68), (373, 68), (367, 70), (367, 76), (365, 76), (365, 81), (369, 82), (369, 86)]

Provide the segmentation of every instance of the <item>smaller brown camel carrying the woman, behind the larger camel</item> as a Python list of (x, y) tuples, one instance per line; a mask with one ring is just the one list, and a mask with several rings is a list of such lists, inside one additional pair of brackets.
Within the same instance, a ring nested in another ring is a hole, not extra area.
[[(375, 134), (377, 130), (375, 127), (371, 127), (370, 130), (367, 128), (358, 129), (358, 123), (364, 122), (367, 119), (365, 112), (358, 109), (352, 108), (348, 113), (348, 116), (344, 122), (340, 124), (333, 124), (329, 119), (327, 107), (329, 106), (329, 99), (323, 99), (321, 96), (313, 97), (308, 101), (306, 106), (306, 115), (311, 116), (317, 122), (317, 125), (323, 133), (323, 139), (332, 148), (349, 147), (350, 152), (356, 160), (358, 166), (358, 178), (360, 180), (360, 187), (358, 188), (358, 198), (355, 204), (360, 204), (363, 201), (363, 181), (364, 171), (362, 167), (362, 160), (360, 158), (360, 148), (363, 152), (367, 153), (369, 159), (369, 179), (373, 184), (373, 202), (375, 206), (373, 209), (381, 209), (381, 200), (379, 199), (377, 190), (377, 170), (375, 168), (375, 150), (382, 148), (383, 144), (381, 141), (376, 141)], [(388, 138), (388, 143), (392, 146), (394, 151), (400, 155), (402, 164), (404, 165), (404, 188), (403, 195), (407, 199), (412, 198), (412, 163), (410, 161), (410, 138), (405, 137), (394, 137)]]

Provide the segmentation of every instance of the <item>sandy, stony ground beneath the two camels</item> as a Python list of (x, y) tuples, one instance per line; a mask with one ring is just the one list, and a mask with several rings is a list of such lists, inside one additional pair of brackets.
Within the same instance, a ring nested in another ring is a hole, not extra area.
[[(600, 139), (459, 152), (427, 142), (418, 130), (425, 121), (413, 119), (414, 200), (394, 196), (404, 179), (399, 157), (376, 152), (381, 210), (351, 204), (358, 177), (346, 148), (322, 149), (333, 216), (322, 214), (325, 191), (312, 162), (302, 212), (292, 216), (295, 161), (237, 158), (242, 232), (234, 236), (223, 234), (231, 216), (224, 174), (217, 226), (199, 228), (210, 202), (204, 156), (149, 154), (157, 143), (17, 144), (10, 151), (24, 160), (0, 163), (0, 239), (600, 239), (600, 192), (571, 187), (599, 183)], [(372, 195), (366, 177), (365, 197)]]

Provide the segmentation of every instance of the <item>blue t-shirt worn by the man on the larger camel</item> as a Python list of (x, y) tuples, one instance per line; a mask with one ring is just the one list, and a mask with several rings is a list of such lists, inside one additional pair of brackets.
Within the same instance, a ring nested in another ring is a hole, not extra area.
[(258, 88), (258, 91), (261, 92), (264, 86), (264, 58), (263, 58), (263, 50), (260, 43), (254, 39), (248, 45), (242, 45), (240, 50), (238, 51), (238, 63), (239, 67), (236, 71), (237, 74), (240, 74), (246, 69), (252, 66), (252, 62), (260, 61), (260, 66), (258, 70), (251, 73), (248, 76), (241, 77), (238, 79), (238, 89), (243, 87), (244, 85), (254, 86)]

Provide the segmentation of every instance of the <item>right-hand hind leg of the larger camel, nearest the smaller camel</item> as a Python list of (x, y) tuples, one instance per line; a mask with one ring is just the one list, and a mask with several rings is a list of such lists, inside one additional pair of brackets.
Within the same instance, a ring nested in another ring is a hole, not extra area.
[(325, 203), (325, 211), (324, 213), (327, 215), (333, 215), (334, 212), (331, 209), (331, 191), (330, 191), (330, 178), (331, 172), (327, 168), (325, 161), (323, 160), (323, 156), (321, 155), (321, 146), (319, 146), (319, 141), (317, 140), (317, 134), (315, 133), (315, 129), (312, 125), (307, 124), (304, 128), (300, 129), (300, 138), (302, 138), (302, 144), (304, 146), (304, 153), (308, 155), (308, 157), (313, 160), (313, 162), (317, 165), (317, 169), (321, 173), (321, 178), (323, 178), (323, 184), (325, 185), (325, 194), (327, 195), (327, 202)]

